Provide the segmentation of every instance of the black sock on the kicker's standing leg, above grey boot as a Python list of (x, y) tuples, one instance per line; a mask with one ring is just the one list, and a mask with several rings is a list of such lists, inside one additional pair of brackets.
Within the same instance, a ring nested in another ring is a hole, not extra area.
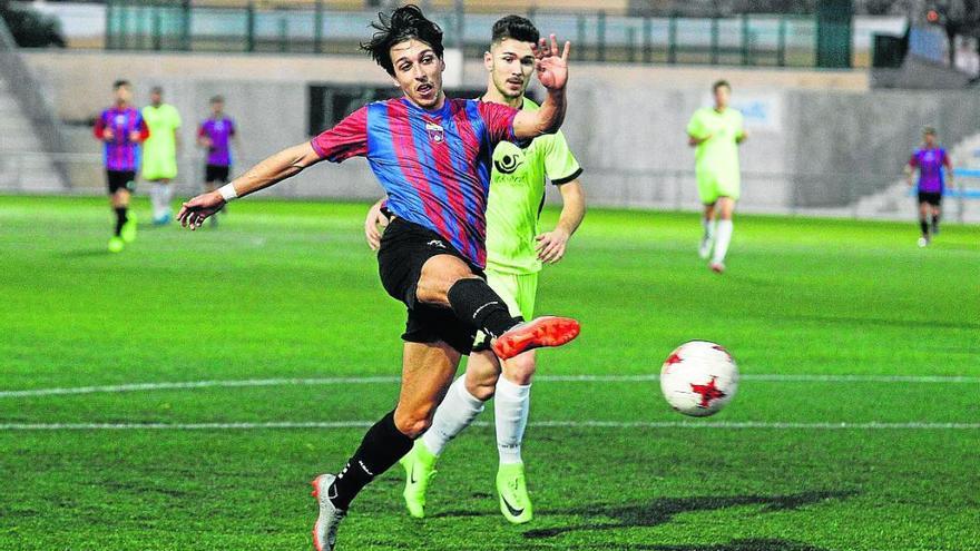
[(364, 486), (391, 469), (411, 449), (412, 439), (394, 426), (394, 412), (381, 417), (381, 421), (367, 430), (357, 451), (337, 474), (327, 491), (330, 501), (337, 509), (347, 509)]

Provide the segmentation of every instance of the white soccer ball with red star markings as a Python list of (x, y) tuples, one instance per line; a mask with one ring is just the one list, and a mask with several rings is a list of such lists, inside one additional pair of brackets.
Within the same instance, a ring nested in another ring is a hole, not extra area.
[(660, 390), (672, 407), (706, 417), (722, 411), (738, 388), (738, 367), (723, 346), (690, 341), (667, 356), (660, 368)]

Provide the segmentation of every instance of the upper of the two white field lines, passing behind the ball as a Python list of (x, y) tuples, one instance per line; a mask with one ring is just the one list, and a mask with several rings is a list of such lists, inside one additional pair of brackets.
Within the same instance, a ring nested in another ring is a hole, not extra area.
[[(541, 375), (535, 381), (542, 383), (637, 383), (658, 381), (658, 375)], [(772, 383), (911, 383), (911, 384), (980, 384), (980, 376), (940, 375), (792, 375), (792, 374), (748, 374), (741, 381), (763, 381)], [(394, 384), (395, 376), (374, 377), (317, 377), (317, 378), (246, 378), (239, 381), (186, 381), (171, 383), (133, 383), (102, 386), (74, 386), (58, 388), (30, 388), (23, 391), (0, 391), (0, 399), (33, 397), (72, 394), (115, 394), (139, 391), (169, 391), (193, 388), (234, 388), (247, 386), (303, 386), (344, 384)]]

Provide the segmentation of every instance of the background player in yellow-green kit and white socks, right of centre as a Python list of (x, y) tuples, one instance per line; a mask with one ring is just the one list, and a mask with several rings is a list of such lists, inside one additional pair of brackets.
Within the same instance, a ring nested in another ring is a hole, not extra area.
[[(738, 146), (748, 135), (742, 125), (742, 114), (728, 107), (732, 86), (718, 80), (712, 86), (714, 107), (694, 112), (687, 124), (687, 142), (695, 150), (697, 191), (704, 205), (704, 237), (698, 254), (712, 257), (708, 266), (715, 273), (725, 272), (725, 256), (732, 243), (732, 216), (742, 194), (738, 168)], [(715, 227), (715, 218), (718, 218)], [(714, 255), (712, 248), (714, 247)]]

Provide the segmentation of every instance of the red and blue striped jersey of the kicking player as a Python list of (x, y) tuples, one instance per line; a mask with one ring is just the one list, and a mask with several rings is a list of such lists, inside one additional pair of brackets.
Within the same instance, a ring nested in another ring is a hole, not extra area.
[(520, 141), (517, 114), (476, 99), (447, 98), (433, 110), (390, 99), (357, 109), (311, 145), (333, 163), (366, 157), (392, 214), (435, 232), (483, 267), (493, 147)]

